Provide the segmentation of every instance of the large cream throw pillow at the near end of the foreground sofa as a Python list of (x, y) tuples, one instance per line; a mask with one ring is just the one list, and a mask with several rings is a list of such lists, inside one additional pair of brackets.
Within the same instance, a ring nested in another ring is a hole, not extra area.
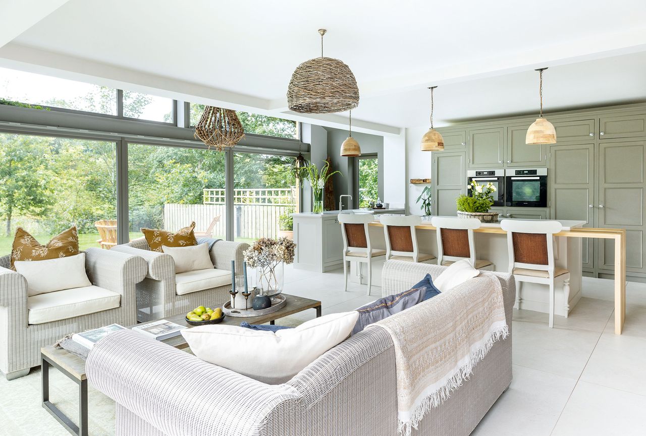
[(357, 317), (355, 311), (331, 313), (278, 332), (214, 324), (182, 330), (182, 335), (203, 361), (261, 382), (280, 384), (344, 341)]

